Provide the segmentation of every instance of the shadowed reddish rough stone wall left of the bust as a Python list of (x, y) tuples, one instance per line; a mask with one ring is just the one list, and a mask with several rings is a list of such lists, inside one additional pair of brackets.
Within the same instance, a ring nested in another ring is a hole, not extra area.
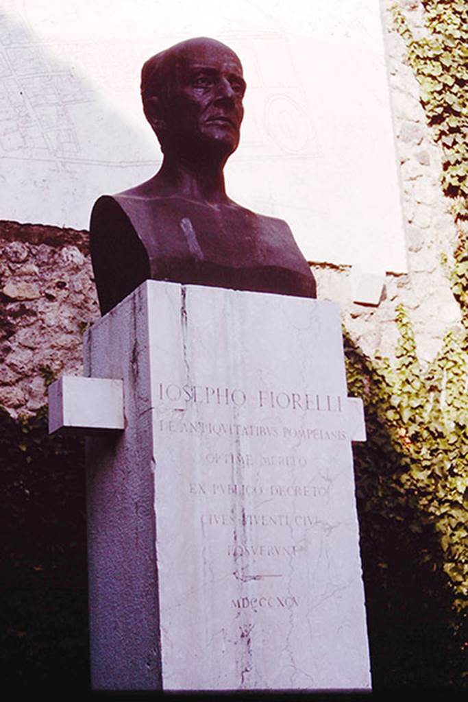
[(0, 223), (0, 405), (46, 404), (46, 382), (82, 372), (81, 337), (99, 316), (87, 232)]

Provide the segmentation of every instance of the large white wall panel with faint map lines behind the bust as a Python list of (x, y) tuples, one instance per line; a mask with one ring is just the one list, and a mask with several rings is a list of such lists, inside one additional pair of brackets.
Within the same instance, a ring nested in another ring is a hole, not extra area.
[(99, 194), (152, 176), (140, 67), (201, 35), (248, 82), (231, 197), (286, 219), (309, 260), (405, 271), (376, 0), (1, 0), (0, 218), (86, 228)]

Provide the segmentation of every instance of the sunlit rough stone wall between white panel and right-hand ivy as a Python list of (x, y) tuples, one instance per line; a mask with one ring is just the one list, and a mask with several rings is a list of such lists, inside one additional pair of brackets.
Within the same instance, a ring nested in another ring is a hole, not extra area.
[[(393, 357), (398, 338), (395, 307), (403, 304), (413, 322), (420, 362), (427, 364), (440, 350), (446, 332), (461, 326), (460, 308), (441, 263), (441, 255), (446, 253), (450, 265), (457, 232), (450, 214), (450, 200), (443, 195), (439, 181), (440, 150), (427, 126), (419, 100), (419, 85), (408, 65), (403, 39), (394, 29), (393, 4), (394, 0), (382, 0), (408, 274), (387, 274), (380, 304), (366, 307), (350, 302), (349, 268), (314, 265), (313, 270), (319, 298), (337, 300), (341, 304), (346, 329), (367, 355), (372, 356), (379, 350)], [(403, 0), (399, 5), (415, 35), (424, 33), (420, 1)]]

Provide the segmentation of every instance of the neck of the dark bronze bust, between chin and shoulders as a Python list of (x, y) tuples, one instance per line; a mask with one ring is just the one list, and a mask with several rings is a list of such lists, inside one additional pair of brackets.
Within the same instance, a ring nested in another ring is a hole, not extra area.
[(223, 166), (224, 163), (219, 161), (194, 164), (180, 157), (165, 155), (154, 177), (154, 185), (162, 197), (178, 195), (210, 204), (226, 203)]

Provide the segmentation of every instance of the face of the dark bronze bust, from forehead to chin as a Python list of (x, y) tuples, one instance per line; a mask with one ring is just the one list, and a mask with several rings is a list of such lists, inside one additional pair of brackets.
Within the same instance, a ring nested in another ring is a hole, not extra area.
[(236, 55), (215, 41), (192, 41), (173, 60), (166, 133), (183, 152), (215, 148), (225, 157), (239, 144), (246, 84)]

